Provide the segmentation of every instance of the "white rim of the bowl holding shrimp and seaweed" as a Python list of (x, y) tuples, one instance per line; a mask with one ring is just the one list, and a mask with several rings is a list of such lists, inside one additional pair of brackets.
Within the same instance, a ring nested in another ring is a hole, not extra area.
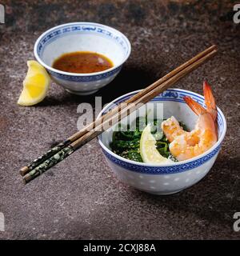
[[(183, 90), (183, 89), (178, 89), (178, 88), (168, 88), (166, 90), (180, 90), (182, 92), (186, 92), (186, 93), (191, 93), (191, 94), (195, 94), (196, 96), (203, 98), (203, 96), (201, 94), (197, 94), (191, 90)], [(109, 106), (111, 106), (112, 104), (114, 104), (114, 102), (118, 102), (121, 98), (125, 98), (126, 96), (129, 96), (129, 95), (132, 95), (132, 94), (137, 94), (139, 91), (141, 90), (134, 90), (130, 93), (127, 93), (127, 94), (123, 94), (122, 96), (118, 97), (118, 98), (115, 98), (112, 102), (108, 103), (103, 109), (102, 111), (98, 114), (98, 118), (100, 118), (102, 116), (102, 113), (107, 109), (109, 108)], [(158, 97), (158, 96), (157, 96)], [(170, 163), (165, 163), (165, 164), (157, 164), (157, 163), (146, 163), (146, 162), (136, 162), (136, 161), (133, 161), (133, 160), (130, 160), (130, 159), (126, 159), (126, 158), (122, 158), (121, 156), (119, 156), (118, 154), (115, 154), (112, 150), (108, 149), (102, 142), (102, 137), (100, 135), (98, 135), (98, 143), (100, 144), (100, 146), (102, 147), (103, 150), (106, 150), (106, 152), (108, 154), (110, 154), (111, 156), (113, 156), (114, 158), (118, 158), (119, 160), (123, 161), (123, 162), (127, 162), (127, 163), (130, 163), (130, 164), (134, 164), (134, 165), (137, 165), (137, 166), (146, 166), (146, 167), (170, 167), (170, 166), (181, 166), (181, 165), (184, 165), (184, 164), (187, 164), (187, 163), (190, 163), (190, 162), (194, 162), (200, 158), (203, 158), (205, 157), (206, 155), (210, 154), (211, 152), (213, 152), (214, 150), (216, 150), (216, 148), (218, 148), (218, 146), (221, 145), (224, 137), (225, 137), (225, 134), (226, 134), (226, 118), (224, 116), (224, 114), (222, 113), (222, 110), (220, 110), (220, 108), (217, 106), (217, 110), (218, 112), (222, 115), (222, 121), (223, 121), (223, 130), (222, 130), (222, 134), (220, 136), (220, 138), (218, 138), (218, 142), (216, 142), (214, 144), (214, 146), (212, 146), (209, 150), (206, 150), (206, 152), (202, 153), (202, 154), (199, 154), (198, 156), (194, 157), (194, 158), (190, 158), (188, 160), (184, 160), (184, 161), (180, 161), (180, 162), (170, 162)]]

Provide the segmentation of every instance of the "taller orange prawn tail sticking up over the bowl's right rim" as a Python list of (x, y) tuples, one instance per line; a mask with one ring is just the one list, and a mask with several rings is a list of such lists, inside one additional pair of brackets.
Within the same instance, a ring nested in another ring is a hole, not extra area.
[(218, 116), (216, 102), (211, 87), (206, 81), (203, 82), (203, 93), (205, 98), (206, 110), (214, 118), (214, 121), (216, 121)]

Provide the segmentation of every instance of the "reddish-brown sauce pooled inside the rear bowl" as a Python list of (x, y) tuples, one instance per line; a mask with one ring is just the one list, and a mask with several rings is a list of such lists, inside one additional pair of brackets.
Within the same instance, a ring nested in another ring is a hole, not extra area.
[(56, 70), (83, 74), (108, 70), (113, 66), (113, 62), (106, 56), (90, 51), (75, 51), (62, 54), (53, 63), (53, 67)]

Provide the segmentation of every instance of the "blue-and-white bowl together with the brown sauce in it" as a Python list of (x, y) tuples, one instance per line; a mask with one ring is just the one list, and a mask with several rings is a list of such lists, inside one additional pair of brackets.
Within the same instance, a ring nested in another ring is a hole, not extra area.
[(44, 32), (34, 55), (54, 82), (72, 94), (94, 94), (109, 84), (130, 56), (128, 38), (94, 22), (72, 22)]

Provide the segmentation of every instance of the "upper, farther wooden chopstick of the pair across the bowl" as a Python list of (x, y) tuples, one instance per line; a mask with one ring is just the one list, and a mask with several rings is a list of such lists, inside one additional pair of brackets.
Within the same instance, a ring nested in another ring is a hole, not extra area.
[[(132, 98), (129, 98), (128, 100), (126, 100), (125, 102), (126, 105), (134, 102), (138, 98), (141, 98), (142, 95), (149, 93), (151, 90), (153, 90), (163, 82), (166, 82), (169, 78), (173, 77), (175, 74), (178, 74), (178, 72), (185, 69), (187, 66), (190, 66), (194, 62), (204, 57), (206, 54), (209, 54), (211, 51), (216, 49), (217, 49), (217, 46), (213, 45), (207, 48), (206, 50), (203, 50), (201, 53), (194, 56), (194, 58), (191, 58), (189, 61), (183, 63), (181, 66), (178, 66), (175, 70), (172, 70), (170, 73), (166, 74), (164, 77), (158, 79), (158, 81), (146, 87), (146, 89), (140, 91), (138, 94), (135, 94)], [(118, 113), (119, 110), (120, 110), (120, 106), (115, 107), (113, 110), (110, 110), (110, 112), (103, 115), (102, 118), (95, 120), (94, 122), (90, 123), (90, 125), (84, 127), (82, 130), (79, 130), (77, 133), (67, 138), (64, 142), (61, 142), (57, 146), (54, 146), (52, 149), (48, 150), (45, 154), (42, 154), (42, 156), (38, 157), (33, 162), (30, 162), (29, 165), (22, 167), (22, 169), (20, 170), (20, 174), (24, 176), (25, 174), (29, 173), (31, 170), (34, 170), (35, 167), (39, 166), (46, 159), (50, 158), (54, 154), (57, 154), (60, 150), (62, 150), (66, 146), (69, 146), (70, 143), (74, 142), (78, 138), (81, 138), (84, 134), (87, 134), (88, 131), (94, 129), (96, 126), (101, 124), (104, 120)]]

